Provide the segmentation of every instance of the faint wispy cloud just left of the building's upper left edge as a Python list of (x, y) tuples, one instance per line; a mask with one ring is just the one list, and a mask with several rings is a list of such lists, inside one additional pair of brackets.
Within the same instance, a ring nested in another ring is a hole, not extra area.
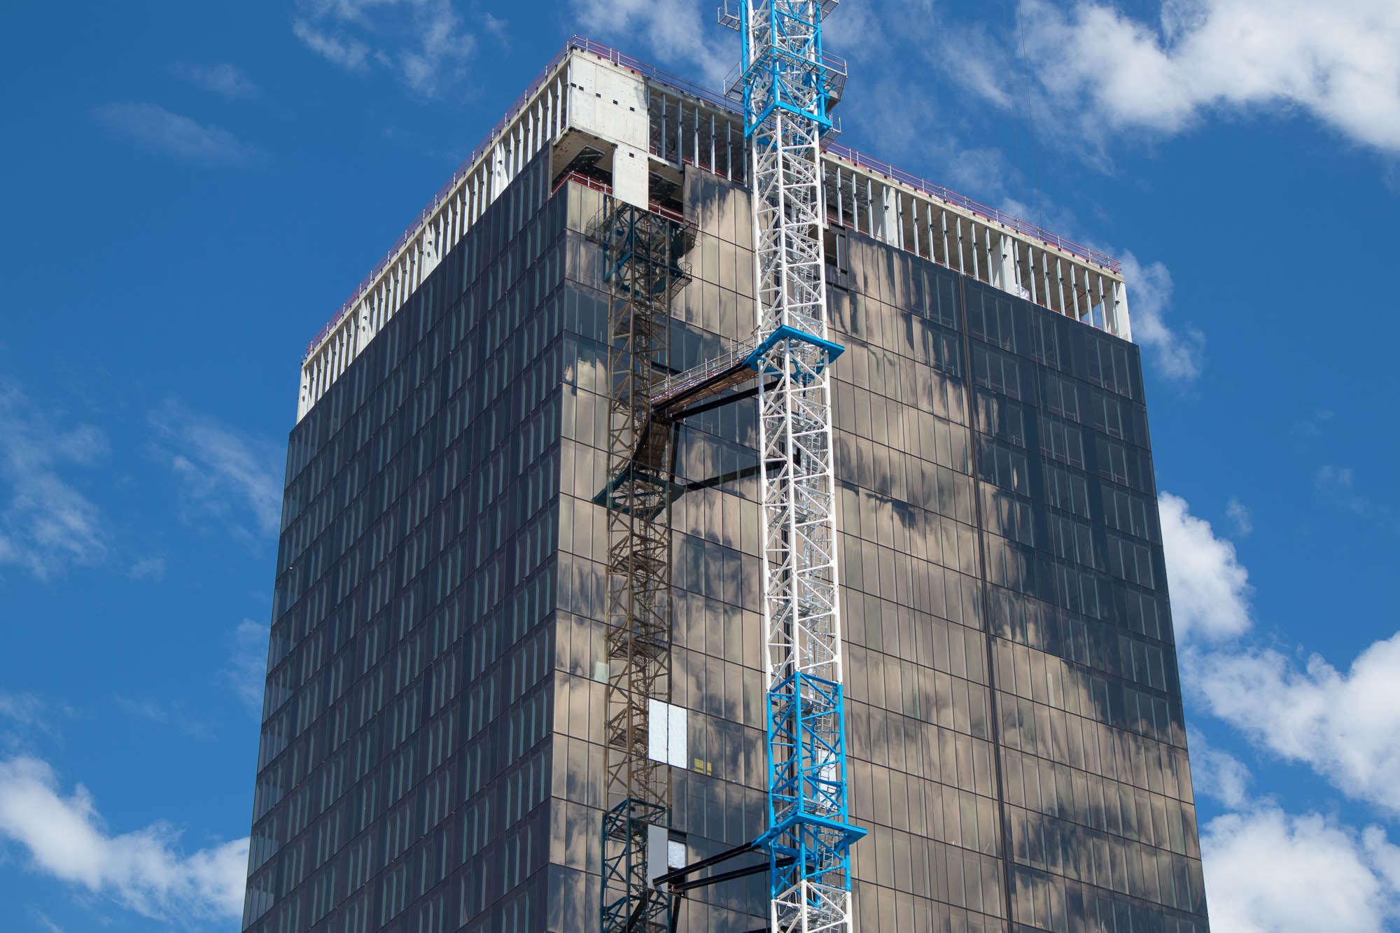
[(151, 424), (157, 430), (157, 457), (169, 464), (178, 481), (186, 521), (218, 520), (246, 538), (277, 532), (284, 462), (280, 445), (174, 401), (151, 415)]

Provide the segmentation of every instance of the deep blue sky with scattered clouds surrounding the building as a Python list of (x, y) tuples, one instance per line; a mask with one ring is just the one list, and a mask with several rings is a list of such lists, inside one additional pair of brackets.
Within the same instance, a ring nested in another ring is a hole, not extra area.
[[(1123, 256), (1215, 929), (1400, 929), (1400, 7), (965, 6), (841, 6), (843, 141)], [(4, 930), (238, 927), (302, 349), (571, 32), (736, 56), (708, 0), (7, 13)]]

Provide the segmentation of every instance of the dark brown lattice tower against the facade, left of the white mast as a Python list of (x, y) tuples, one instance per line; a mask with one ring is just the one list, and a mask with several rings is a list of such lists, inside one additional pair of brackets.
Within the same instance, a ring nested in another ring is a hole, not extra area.
[(671, 775), (648, 755), (648, 707), (671, 699), (671, 503), (679, 488), (672, 424), (654, 417), (651, 392), (669, 364), (671, 301), (689, 280), (682, 256), (694, 234), (612, 196), (591, 234), (610, 287), (602, 930), (665, 933), (669, 898), (652, 878), (665, 871)]

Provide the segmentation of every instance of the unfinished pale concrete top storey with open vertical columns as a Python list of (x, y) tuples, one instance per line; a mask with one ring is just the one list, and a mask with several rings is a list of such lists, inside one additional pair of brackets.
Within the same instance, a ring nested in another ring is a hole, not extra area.
[[(748, 165), (736, 101), (571, 38), (311, 342), (297, 420), (545, 148), (554, 189), (602, 188), (661, 213), (683, 210), (687, 168), (743, 182)], [(874, 237), (1131, 339), (1114, 259), (834, 141), (822, 170), (829, 230)], [(840, 244), (827, 237), (829, 251)], [(839, 256), (829, 263), (839, 275)]]

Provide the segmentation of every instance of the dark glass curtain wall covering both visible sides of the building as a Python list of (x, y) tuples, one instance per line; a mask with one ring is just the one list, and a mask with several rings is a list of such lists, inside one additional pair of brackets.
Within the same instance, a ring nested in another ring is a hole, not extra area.
[[(291, 434), (244, 929), (598, 927), (608, 293), (538, 160)], [(687, 170), (672, 367), (753, 328), (748, 193)], [(1207, 929), (1135, 346), (827, 237), (860, 930)], [(756, 406), (678, 469), (756, 462)], [(757, 481), (673, 506), (671, 839), (766, 817)], [(689, 894), (742, 933), (763, 874)]]

